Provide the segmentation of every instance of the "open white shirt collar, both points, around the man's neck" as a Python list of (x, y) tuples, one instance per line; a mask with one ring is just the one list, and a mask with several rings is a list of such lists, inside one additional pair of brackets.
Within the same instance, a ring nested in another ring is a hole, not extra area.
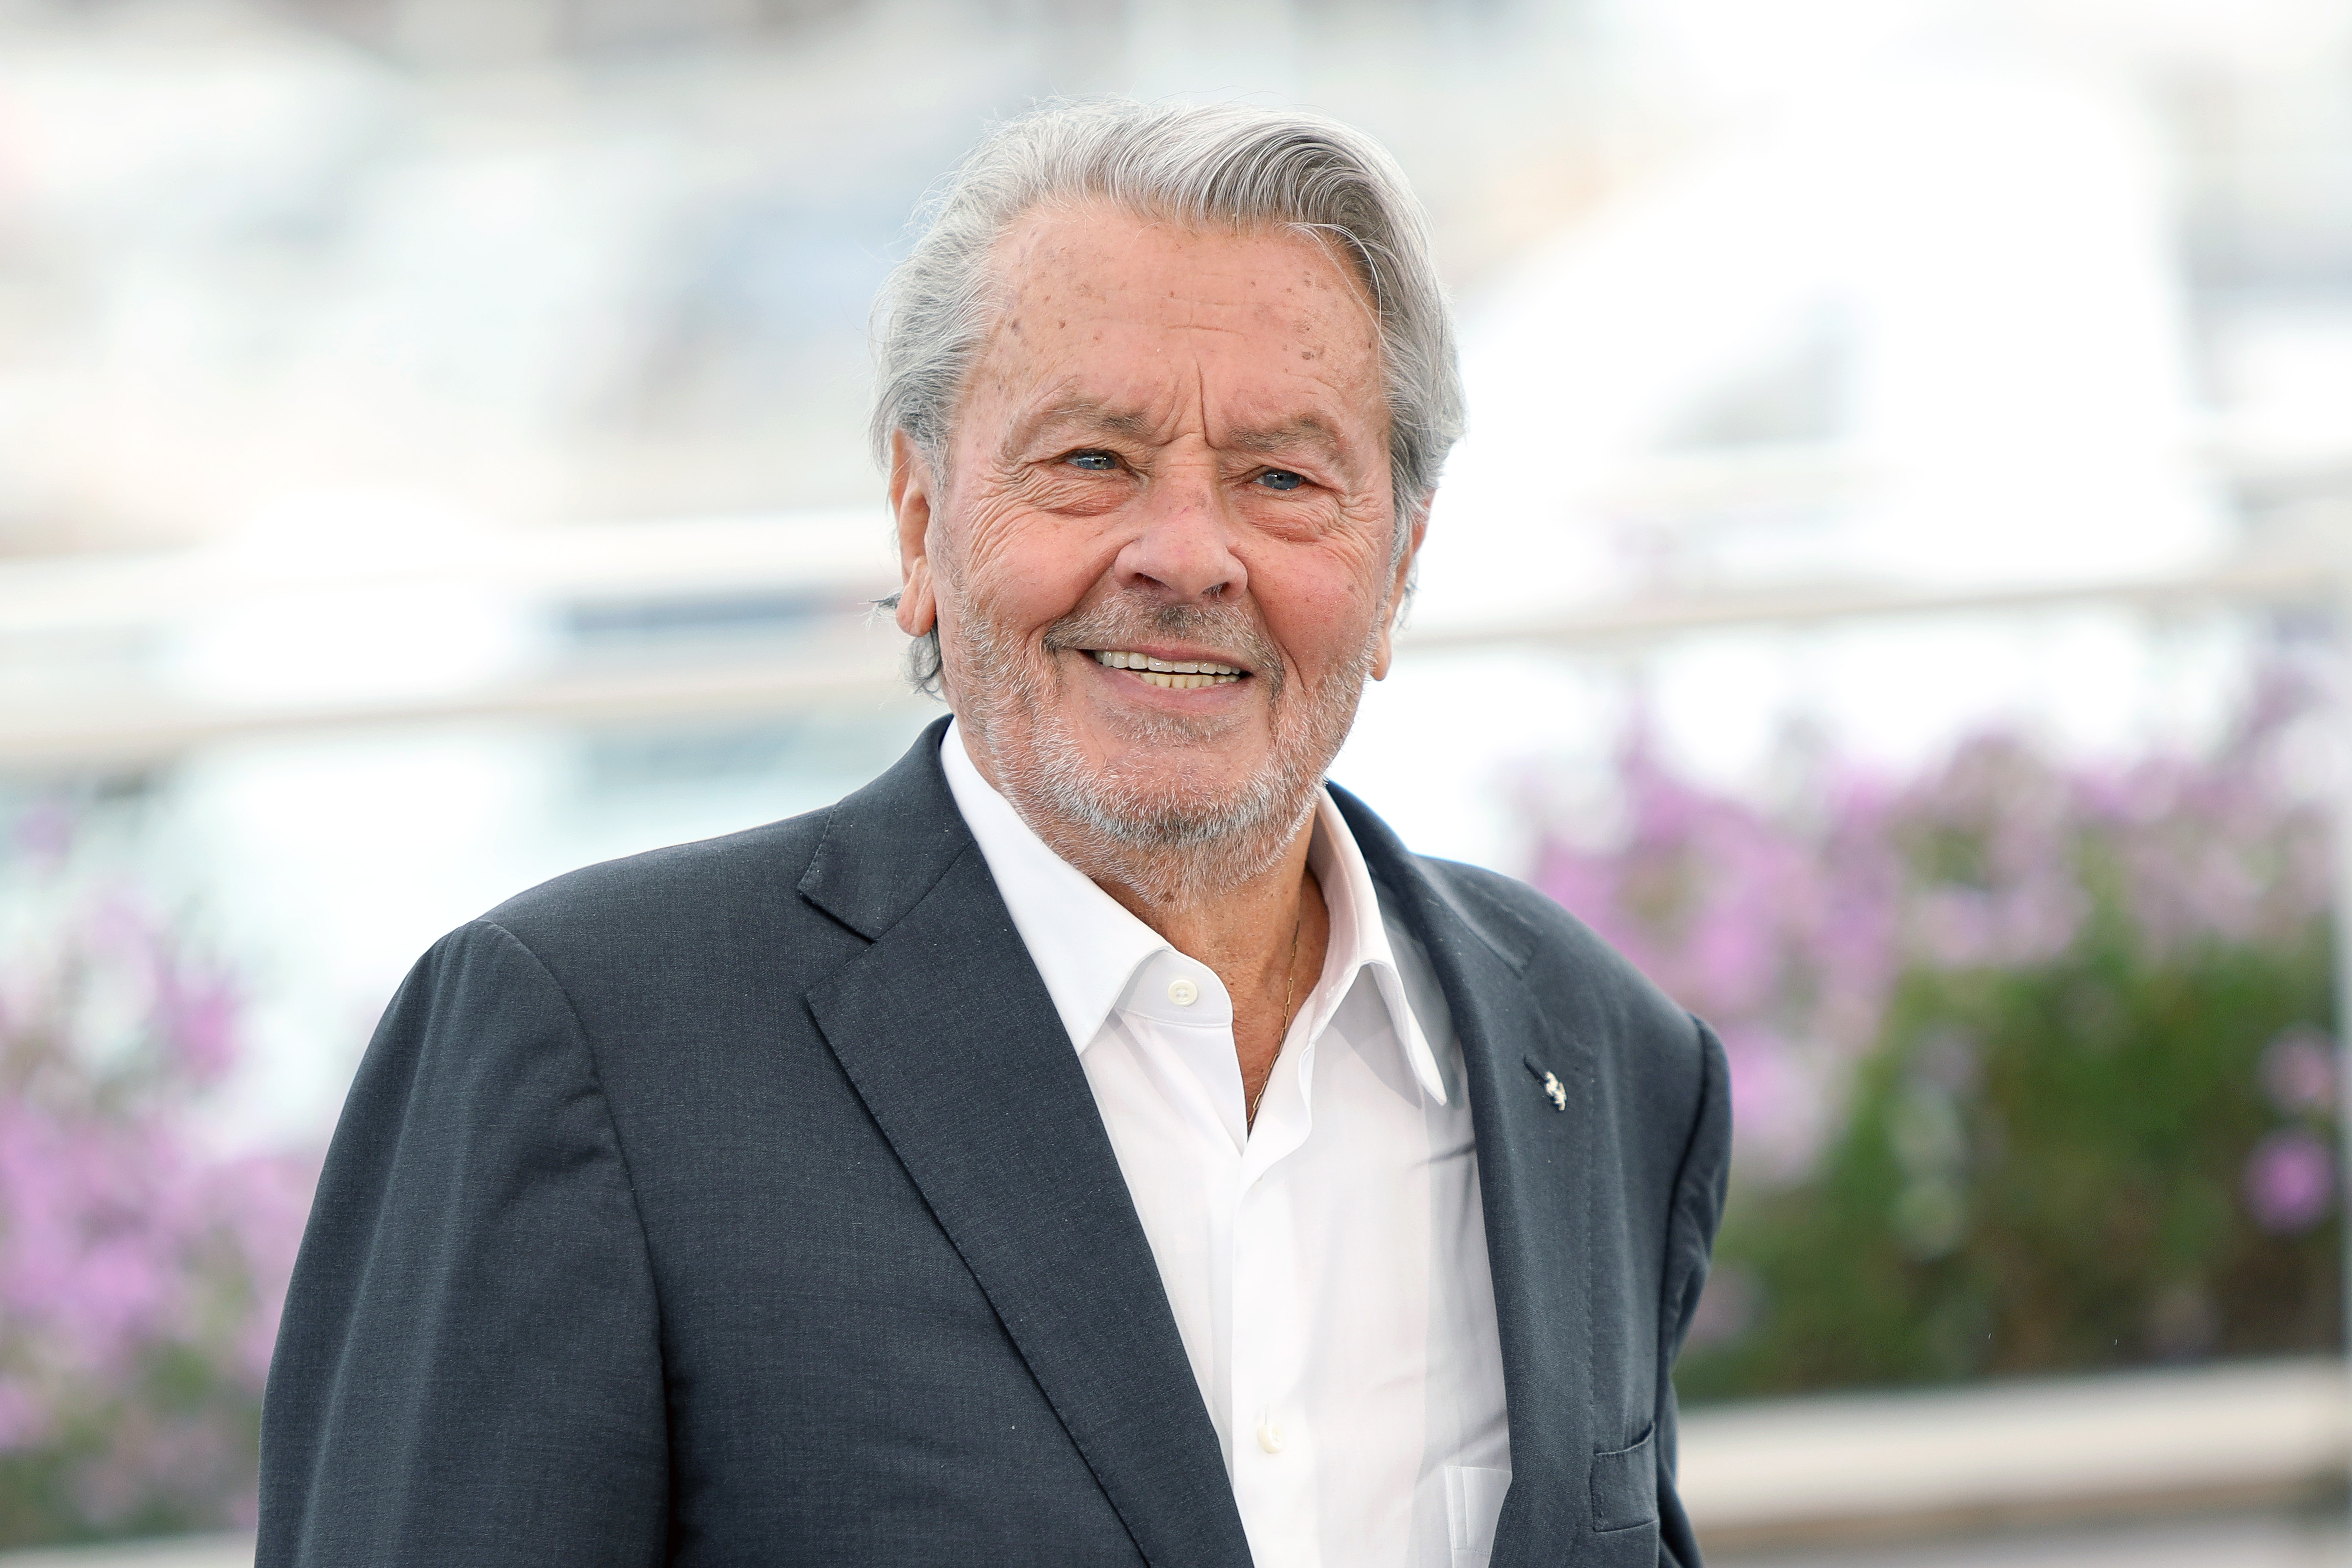
[[(988, 860), (988, 872), (1004, 896), (1004, 907), (1014, 917), (1014, 929), (1028, 947), (1044, 990), (1054, 997), (1070, 1044), (1084, 1053), (1101, 1034), (1103, 1020), (1127, 992), (1134, 973), (1162, 952), (1176, 952), (1164, 936), (1127, 912), (1127, 907), (1098, 889), (1082, 870), (1056, 856), (1037, 832), (1021, 820), (1011, 802), (995, 785), (981, 778), (964, 750), (957, 724), (938, 741), (938, 762), (948, 773), (948, 790), (955, 795), (964, 825)], [(1390, 1025), (1404, 1060), (1432, 1100), (1444, 1105), (1446, 1088), (1430, 1056), (1430, 1041), (1414, 1018), (1404, 997), (1404, 980), (1397, 973), (1397, 957), (1388, 943), (1388, 926), (1381, 922), (1381, 898), (1364, 867), (1364, 851), (1348, 832), (1345, 818), (1331, 802), (1329, 790), (1315, 797), (1315, 837), (1308, 844), (1308, 867), (1322, 886), (1324, 910), (1331, 914), (1331, 936), (1324, 947), (1324, 969), (1308, 994), (1303, 1039), (1312, 1041), (1345, 1001), (1355, 976), (1371, 971), (1374, 987), (1388, 1006)], [(1197, 961), (1197, 959), (1195, 959)], [(1204, 966), (1207, 969), (1207, 966)]]

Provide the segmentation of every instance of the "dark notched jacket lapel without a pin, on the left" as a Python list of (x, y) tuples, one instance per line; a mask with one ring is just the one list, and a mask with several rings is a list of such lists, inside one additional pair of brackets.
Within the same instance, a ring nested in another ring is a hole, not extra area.
[(800, 891), (873, 945), (809, 1011), (1145, 1561), (1247, 1568), (1150, 1244), (941, 731), (835, 806)]

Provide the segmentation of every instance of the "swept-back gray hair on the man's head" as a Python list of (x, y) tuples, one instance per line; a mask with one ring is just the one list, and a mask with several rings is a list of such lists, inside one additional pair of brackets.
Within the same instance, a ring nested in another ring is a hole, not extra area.
[[(1397, 162), (1369, 136), (1298, 108), (1247, 103), (1056, 101), (997, 125), (924, 202), (924, 233), (877, 301), (875, 458), (906, 430), (934, 470), (971, 362), (995, 322), (990, 256), (1049, 202), (1115, 202), (1192, 228), (1282, 226), (1322, 235), (1371, 294), (1388, 388), (1388, 468), (1406, 517), (1428, 505), (1461, 440), (1454, 322), (1430, 235)], [(938, 639), (910, 649), (917, 686), (938, 689)]]

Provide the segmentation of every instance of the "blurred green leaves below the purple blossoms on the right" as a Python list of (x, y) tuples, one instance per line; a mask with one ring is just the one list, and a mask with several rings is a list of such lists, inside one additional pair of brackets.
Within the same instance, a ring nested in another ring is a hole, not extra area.
[(1736, 1192), (1684, 1396), (2336, 1347), (2336, 1227), (2246, 1199), (2328, 973), (2324, 922), (2164, 947), (2112, 898), (2053, 961), (1907, 969), (1813, 1173)]

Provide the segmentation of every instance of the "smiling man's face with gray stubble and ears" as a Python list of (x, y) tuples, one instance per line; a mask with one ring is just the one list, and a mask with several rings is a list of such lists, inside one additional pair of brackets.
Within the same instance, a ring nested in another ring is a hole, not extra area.
[(1287, 839), (1411, 555), (1362, 287), (1296, 233), (1110, 207), (1030, 214), (997, 268), (946, 473), (901, 440), (901, 623), (936, 609), (976, 762), (1049, 839)]

